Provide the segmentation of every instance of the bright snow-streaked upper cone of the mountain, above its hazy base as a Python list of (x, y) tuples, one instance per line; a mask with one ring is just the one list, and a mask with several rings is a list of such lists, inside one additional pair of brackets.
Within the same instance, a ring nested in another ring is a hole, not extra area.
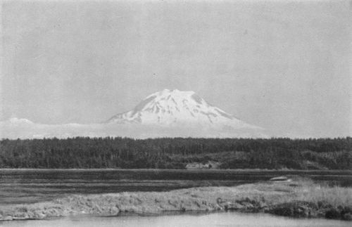
[(165, 89), (147, 96), (133, 110), (108, 119), (108, 123), (157, 124), (166, 127), (196, 126), (256, 128), (210, 105), (194, 91)]

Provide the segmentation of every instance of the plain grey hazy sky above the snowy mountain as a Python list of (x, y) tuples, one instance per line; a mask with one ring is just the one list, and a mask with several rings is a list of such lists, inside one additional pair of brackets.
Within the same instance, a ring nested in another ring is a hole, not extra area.
[(2, 1), (0, 120), (101, 122), (180, 89), (282, 135), (351, 135), (350, 7)]

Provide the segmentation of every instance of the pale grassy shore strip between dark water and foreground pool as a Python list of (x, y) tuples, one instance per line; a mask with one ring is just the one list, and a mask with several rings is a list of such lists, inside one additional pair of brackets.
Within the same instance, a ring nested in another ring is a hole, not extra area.
[(308, 179), (295, 179), (170, 192), (71, 195), (50, 202), (0, 206), (0, 221), (230, 210), (351, 221), (352, 188), (322, 186)]

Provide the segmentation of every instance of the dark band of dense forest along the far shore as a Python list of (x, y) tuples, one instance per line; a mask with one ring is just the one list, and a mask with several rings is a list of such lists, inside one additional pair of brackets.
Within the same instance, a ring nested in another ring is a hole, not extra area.
[(352, 138), (2, 139), (0, 168), (352, 169)]

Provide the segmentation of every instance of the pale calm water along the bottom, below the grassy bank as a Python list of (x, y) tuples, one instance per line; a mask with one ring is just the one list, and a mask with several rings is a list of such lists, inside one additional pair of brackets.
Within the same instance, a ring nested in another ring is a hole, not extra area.
[(203, 226), (241, 226), (241, 227), (350, 227), (350, 221), (325, 219), (289, 219), (269, 214), (213, 213), (177, 216), (116, 216), (116, 217), (80, 217), (34, 221), (3, 221), (4, 227), (203, 227)]

